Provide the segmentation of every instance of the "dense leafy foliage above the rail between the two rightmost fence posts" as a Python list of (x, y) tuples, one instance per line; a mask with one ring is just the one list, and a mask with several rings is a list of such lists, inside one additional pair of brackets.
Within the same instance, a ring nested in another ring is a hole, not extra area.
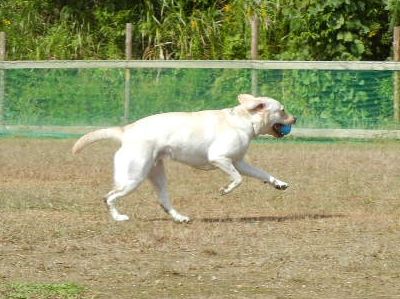
[(388, 13), (381, 0), (275, 3), (267, 5), (265, 43), (271, 46), (264, 58), (384, 60), (390, 55), (390, 44), (382, 39)]

